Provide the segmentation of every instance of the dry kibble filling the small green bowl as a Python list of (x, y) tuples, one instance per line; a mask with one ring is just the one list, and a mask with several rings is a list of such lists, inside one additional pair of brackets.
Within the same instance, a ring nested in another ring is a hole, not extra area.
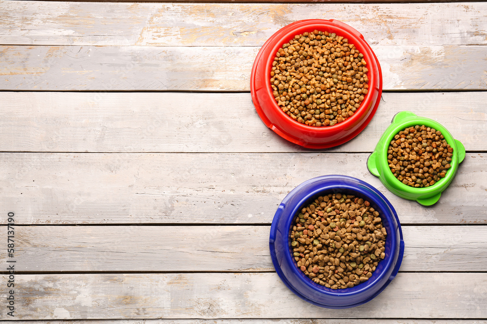
[(408, 127), (396, 134), (387, 151), (394, 176), (414, 188), (429, 187), (450, 169), (453, 148), (440, 131), (425, 125)]

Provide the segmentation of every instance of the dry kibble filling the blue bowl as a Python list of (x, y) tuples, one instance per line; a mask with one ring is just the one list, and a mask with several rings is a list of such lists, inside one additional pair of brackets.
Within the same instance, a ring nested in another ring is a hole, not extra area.
[(298, 268), (314, 282), (352, 288), (367, 281), (385, 257), (387, 232), (368, 201), (328, 194), (301, 209), (291, 228)]

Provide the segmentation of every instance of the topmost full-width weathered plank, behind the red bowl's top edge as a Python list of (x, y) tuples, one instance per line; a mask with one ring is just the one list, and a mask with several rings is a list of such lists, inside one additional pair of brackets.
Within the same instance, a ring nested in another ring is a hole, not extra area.
[(486, 11), (487, 4), (482, 2), (209, 5), (3, 1), (0, 44), (260, 47), (283, 26), (313, 17), (343, 21), (374, 46), (485, 45)]

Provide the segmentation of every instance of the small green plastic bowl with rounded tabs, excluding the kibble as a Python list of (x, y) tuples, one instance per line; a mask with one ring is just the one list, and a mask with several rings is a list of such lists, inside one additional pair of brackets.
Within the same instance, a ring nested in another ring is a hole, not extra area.
[[(403, 184), (394, 177), (387, 163), (387, 150), (393, 137), (400, 131), (414, 125), (425, 125), (440, 131), (447, 140), (447, 143), (450, 144), (450, 147), (453, 148), (453, 156), (450, 162), (451, 168), (447, 171), (446, 176), (427, 188), (413, 188)], [(440, 199), (443, 190), (450, 185), (458, 170), (458, 165), (464, 158), (465, 147), (463, 144), (454, 139), (450, 132), (441, 124), (429, 118), (418, 117), (410, 111), (401, 111), (394, 116), (391, 125), (387, 127), (384, 134), (380, 137), (374, 152), (367, 160), (367, 168), (370, 173), (379, 177), (382, 184), (395, 195), (405, 199), (415, 200), (421, 205), (430, 206)]]

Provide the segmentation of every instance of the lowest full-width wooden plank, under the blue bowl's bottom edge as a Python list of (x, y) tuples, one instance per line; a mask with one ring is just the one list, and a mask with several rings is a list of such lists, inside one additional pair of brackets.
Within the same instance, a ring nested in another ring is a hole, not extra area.
[(487, 273), (399, 273), (349, 309), (312, 306), (276, 273), (19, 274), (15, 283), (17, 320), (487, 317)]

